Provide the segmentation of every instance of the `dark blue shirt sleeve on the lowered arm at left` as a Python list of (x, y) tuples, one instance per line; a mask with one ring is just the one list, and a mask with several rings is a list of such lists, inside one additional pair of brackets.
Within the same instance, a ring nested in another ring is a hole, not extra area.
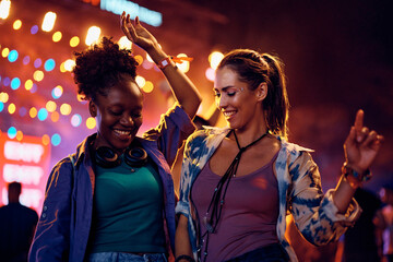
[(72, 168), (63, 159), (51, 170), (28, 261), (68, 261)]

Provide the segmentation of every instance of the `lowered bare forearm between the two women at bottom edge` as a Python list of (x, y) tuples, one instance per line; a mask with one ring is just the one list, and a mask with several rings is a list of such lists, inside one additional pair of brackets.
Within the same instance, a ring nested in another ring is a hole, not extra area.
[[(187, 254), (193, 258), (190, 237), (188, 234), (188, 218), (183, 215), (180, 215), (178, 226), (176, 228), (175, 250), (176, 250), (176, 258), (181, 254)], [(181, 260), (180, 262), (184, 260)]]

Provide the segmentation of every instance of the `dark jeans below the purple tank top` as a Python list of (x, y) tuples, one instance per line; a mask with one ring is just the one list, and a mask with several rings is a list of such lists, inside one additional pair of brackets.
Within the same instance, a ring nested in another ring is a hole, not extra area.
[(226, 262), (288, 262), (289, 257), (279, 243), (272, 243), (263, 248), (243, 253)]

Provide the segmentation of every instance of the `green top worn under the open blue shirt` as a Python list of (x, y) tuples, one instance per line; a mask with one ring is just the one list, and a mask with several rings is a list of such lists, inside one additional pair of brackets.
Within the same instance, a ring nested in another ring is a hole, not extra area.
[[(96, 166), (91, 252), (164, 253), (163, 186), (148, 162)], [(133, 169), (134, 171), (132, 171)]]

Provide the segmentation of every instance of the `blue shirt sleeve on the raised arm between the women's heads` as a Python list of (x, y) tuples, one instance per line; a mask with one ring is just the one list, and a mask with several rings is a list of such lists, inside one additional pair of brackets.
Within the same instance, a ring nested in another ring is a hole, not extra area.
[(160, 117), (158, 126), (146, 131), (144, 139), (156, 140), (159, 151), (164, 154), (169, 166), (176, 159), (177, 151), (181, 147), (183, 141), (195, 131), (187, 112), (177, 103), (174, 107)]

